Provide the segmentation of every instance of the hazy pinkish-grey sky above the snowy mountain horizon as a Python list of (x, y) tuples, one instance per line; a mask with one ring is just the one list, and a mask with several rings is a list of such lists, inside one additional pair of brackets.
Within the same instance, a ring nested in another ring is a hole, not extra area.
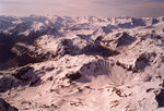
[(164, 0), (0, 0), (0, 15), (162, 16)]

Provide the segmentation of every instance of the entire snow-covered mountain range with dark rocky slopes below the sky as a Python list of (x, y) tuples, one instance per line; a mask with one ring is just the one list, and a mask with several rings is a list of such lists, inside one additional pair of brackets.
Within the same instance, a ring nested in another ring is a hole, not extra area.
[(2, 111), (163, 111), (163, 72), (164, 17), (0, 16)]

